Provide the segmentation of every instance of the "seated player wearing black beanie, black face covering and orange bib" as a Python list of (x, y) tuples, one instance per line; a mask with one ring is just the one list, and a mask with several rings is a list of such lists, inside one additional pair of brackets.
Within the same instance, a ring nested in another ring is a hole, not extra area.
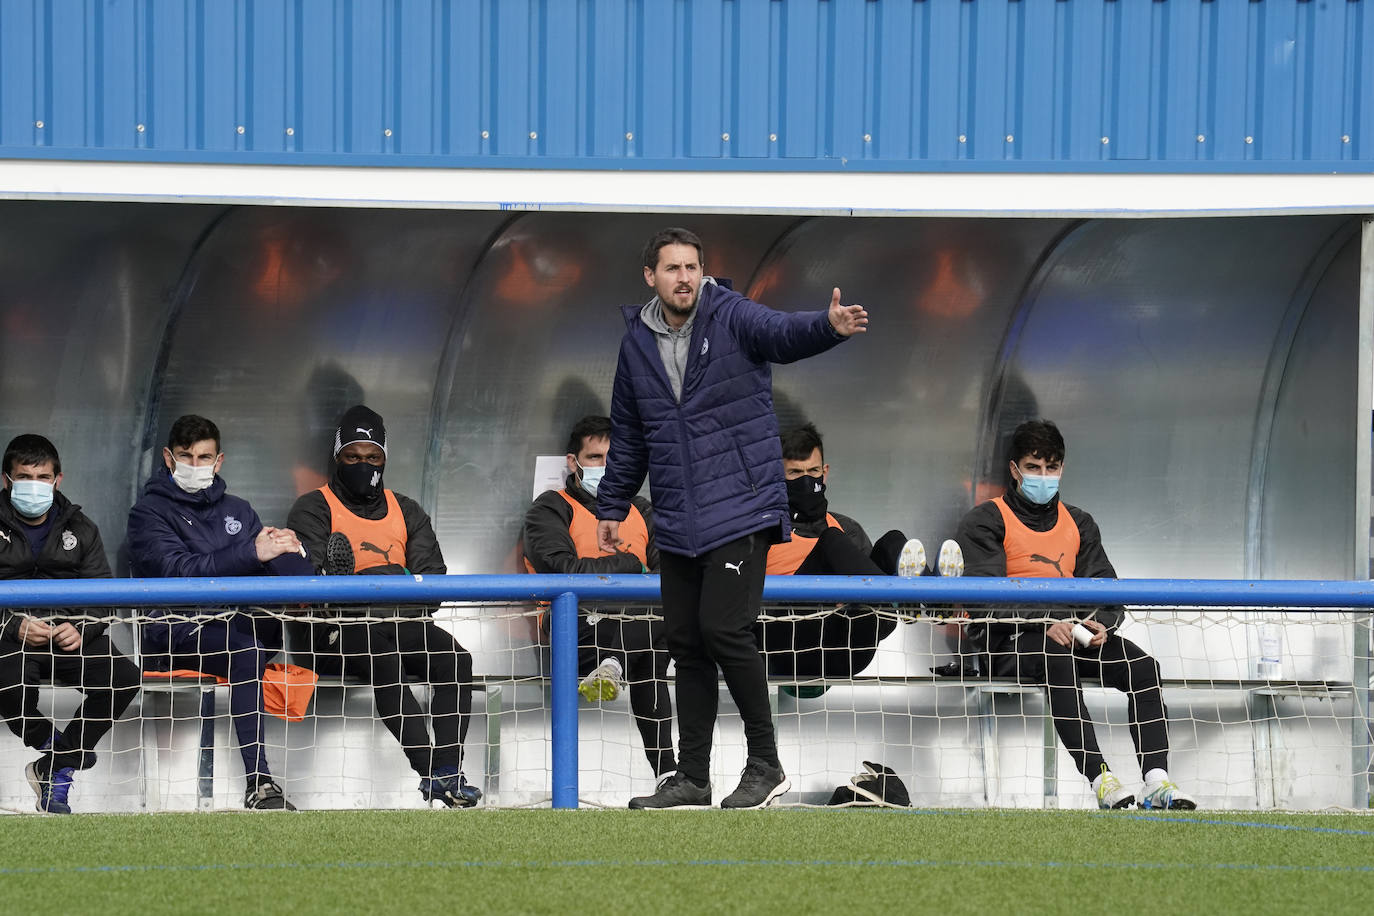
[[(352, 407), (334, 433), (328, 482), (295, 501), (287, 526), (326, 574), (405, 575), (448, 571), (430, 518), (419, 504), (382, 485), (386, 424)], [(364, 608), (382, 622), (346, 617), (311, 626), (316, 665), (335, 656), (342, 670), (372, 685), (376, 714), (420, 776), (420, 795), (448, 808), (471, 808), (482, 792), (463, 777), (463, 739), (473, 710), (473, 656), (437, 626), (431, 610)], [(416, 619), (398, 619), (403, 614)], [(419, 619), (420, 617), (427, 619)], [(319, 670), (319, 669), (317, 669)], [(409, 674), (430, 684), (434, 742)]]

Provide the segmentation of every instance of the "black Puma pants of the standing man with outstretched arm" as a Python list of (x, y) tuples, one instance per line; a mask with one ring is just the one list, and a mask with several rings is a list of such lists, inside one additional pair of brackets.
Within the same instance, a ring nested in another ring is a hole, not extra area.
[(698, 783), (710, 777), (721, 676), (745, 722), (749, 755), (780, 765), (754, 637), (768, 547), (767, 531), (756, 531), (701, 556), (660, 551), (664, 629), (677, 663), (677, 770)]

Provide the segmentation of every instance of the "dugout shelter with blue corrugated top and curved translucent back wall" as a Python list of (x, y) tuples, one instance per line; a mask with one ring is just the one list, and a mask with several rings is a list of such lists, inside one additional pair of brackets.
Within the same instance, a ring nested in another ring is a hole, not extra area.
[[(533, 457), (609, 407), (639, 247), (682, 224), (763, 302), (870, 309), (775, 374), (870, 533), (949, 536), (1044, 415), (1121, 575), (1366, 578), (1371, 220), (1369, 0), (0, 4), (0, 435), (56, 442), (115, 569), (176, 416), (280, 523), (365, 401), (449, 571), (502, 571)], [(1250, 629), (1150, 621), (1167, 676), (1253, 676)], [(480, 672), (539, 669), (523, 622), (455, 626)], [(1289, 676), (1367, 709), (1367, 633), (1293, 630)], [(1285, 768), (1358, 779), (1351, 721)]]

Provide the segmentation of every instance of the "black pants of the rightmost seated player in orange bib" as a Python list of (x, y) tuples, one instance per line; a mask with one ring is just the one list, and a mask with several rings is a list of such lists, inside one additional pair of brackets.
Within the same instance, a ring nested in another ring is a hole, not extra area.
[[(1017, 677), (1040, 684), (1050, 695), (1050, 714), (1059, 742), (1073, 757), (1074, 766), (1090, 780), (1106, 761), (1083, 702), (1080, 678), (1096, 678), (1127, 695), (1131, 740), (1140, 772), (1168, 769), (1169, 731), (1160, 689), (1160, 663), (1143, 648), (1116, 633), (1101, 647), (1059, 645), (1047, 628), (1022, 628), (1015, 641)], [(1110, 768), (1109, 768), (1110, 769)]]

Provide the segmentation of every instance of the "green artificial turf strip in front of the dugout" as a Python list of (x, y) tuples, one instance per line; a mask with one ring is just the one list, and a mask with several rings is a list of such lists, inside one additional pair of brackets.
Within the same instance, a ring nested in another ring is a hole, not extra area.
[(0, 913), (1367, 912), (1358, 814), (302, 812), (0, 818)]

